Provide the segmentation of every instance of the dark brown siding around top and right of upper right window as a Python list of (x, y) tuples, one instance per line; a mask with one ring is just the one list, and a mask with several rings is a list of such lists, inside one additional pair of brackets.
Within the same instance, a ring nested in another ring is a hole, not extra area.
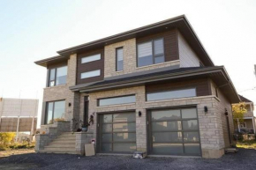
[(164, 40), (164, 55), (165, 61), (178, 60), (178, 50), (177, 50), (177, 29), (166, 31), (163, 33), (156, 33), (148, 35), (143, 38), (137, 39), (137, 43), (152, 41), (154, 39), (163, 38)]

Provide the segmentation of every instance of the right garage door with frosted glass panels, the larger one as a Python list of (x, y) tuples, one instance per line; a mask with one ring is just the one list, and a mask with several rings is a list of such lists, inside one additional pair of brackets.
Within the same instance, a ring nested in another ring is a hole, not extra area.
[(201, 155), (196, 108), (151, 110), (147, 117), (150, 154)]

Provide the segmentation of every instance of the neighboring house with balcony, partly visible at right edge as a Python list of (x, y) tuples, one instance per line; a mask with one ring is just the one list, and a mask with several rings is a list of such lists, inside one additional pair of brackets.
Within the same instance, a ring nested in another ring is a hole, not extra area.
[(244, 115), (244, 122), (238, 122), (235, 124), (235, 129), (238, 132), (245, 132), (245, 133), (256, 133), (256, 117), (253, 115), (254, 111), (254, 104), (251, 100), (246, 99), (245, 97), (240, 95), (240, 99), (245, 102), (247, 113)]

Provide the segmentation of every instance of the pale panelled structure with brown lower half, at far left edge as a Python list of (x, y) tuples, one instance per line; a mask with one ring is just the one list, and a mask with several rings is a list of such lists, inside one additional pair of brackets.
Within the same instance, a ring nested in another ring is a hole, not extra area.
[[(0, 98), (0, 132), (29, 132), (33, 139), (38, 113), (38, 100)], [(24, 135), (23, 135), (24, 136)]]

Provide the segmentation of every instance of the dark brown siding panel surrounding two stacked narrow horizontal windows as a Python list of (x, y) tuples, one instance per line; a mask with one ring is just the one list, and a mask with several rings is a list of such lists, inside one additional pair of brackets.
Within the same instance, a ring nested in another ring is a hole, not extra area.
[[(101, 53), (101, 60), (97, 60), (89, 63), (81, 63), (82, 57), (89, 56), (89, 55), (96, 55), (99, 53)], [(94, 77), (94, 78), (84, 78), (84, 79), (80, 78), (81, 73), (87, 72), (90, 70), (101, 70), (101, 76)], [(103, 48), (78, 54), (77, 85), (91, 83), (94, 81), (100, 81), (103, 78), (104, 78), (104, 49)]]

